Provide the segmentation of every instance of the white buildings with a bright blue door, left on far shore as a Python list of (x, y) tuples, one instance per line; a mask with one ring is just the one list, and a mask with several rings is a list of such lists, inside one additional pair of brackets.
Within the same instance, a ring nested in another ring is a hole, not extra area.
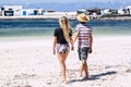
[(22, 15), (43, 15), (43, 9), (23, 9), (22, 5), (3, 5), (1, 8), (2, 16), (22, 16)]

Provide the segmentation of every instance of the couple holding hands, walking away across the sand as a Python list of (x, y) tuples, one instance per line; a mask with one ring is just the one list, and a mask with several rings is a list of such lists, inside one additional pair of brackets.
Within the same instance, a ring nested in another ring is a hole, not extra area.
[(66, 16), (60, 17), (59, 24), (60, 27), (55, 29), (53, 33), (53, 54), (57, 53), (62, 82), (67, 83), (66, 75), (66, 60), (69, 54), (70, 48), (74, 50), (74, 42), (78, 39), (78, 53), (81, 61), (80, 76), (82, 77), (83, 72), (85, 72), (85, 77), (88, 78), (88, 67), (87, 67), (87, 57), (88, 53), (92, 53), (93, 45), (93, 35), (92, 28), (86, 24), (90, 21), (90, 17), (84, 14), (78, 14), (76, 20), (80, 22), (75, 26), (75, 34), (72, 38), (72, 30), (69, 25), (69, 21)]

